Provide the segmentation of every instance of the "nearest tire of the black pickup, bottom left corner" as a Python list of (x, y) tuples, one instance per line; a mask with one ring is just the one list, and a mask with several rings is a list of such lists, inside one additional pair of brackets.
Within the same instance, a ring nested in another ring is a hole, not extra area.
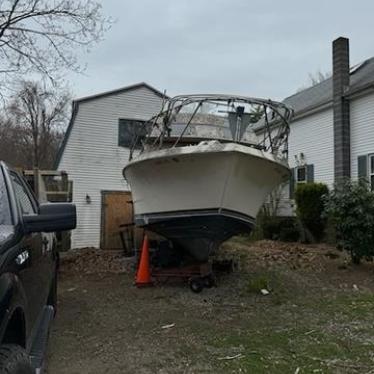
[(0, 374), (34, 374), (30, 357), (26, 351), (15, 344), (0, 346)]

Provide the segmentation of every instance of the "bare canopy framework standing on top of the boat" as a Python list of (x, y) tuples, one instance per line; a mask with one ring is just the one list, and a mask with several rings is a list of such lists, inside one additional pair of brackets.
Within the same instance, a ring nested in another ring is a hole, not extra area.
[[(242, 115), (244, 114), (244, 106), (249, 105), (252, 108), (261, 108), (261, 115), (256, 122), (250, 122), (251, 130), (256, 135), (258, 141), (243, 142), (240, 136), (233, 139), (216, 139), (219, 141), (226, 141), (231, 143), (244, 144), (249, 147), (260, 149), (265, 152), (272, 153), (275, 157), (285, 159), (288, 157), (288, 136), (290, 132), (289, 122), (293, 116), (293, 110), (284, 103), (273, 101), (270, 99), (253, 98), (246, 96), (233, 95), (219, 95), (219, 94), (194, 94), (194, 95), (178, 95), (173, 98), (164, 97), (161, 110), (150, 120), (143, 123), (143, 129), (140, 133), (147, 135), (143, 139), (139, 139), (136, 135), (133, 146), (130, 149), (131, 160), (136, 149), (139, 149), (139, 141), (141, 141), (140, 153), (145, 150), (155, 150), (166, 147), (166, 140), (171, 138), (171, 125), (176, 119), (176, 116), (183, 112), (187, 106), (194, 106), (194, 109), (187, 114), (190, 115), (185, 123), (185, 126), (179, 136), (170, 142), (169, 148), (177, 147), (184, 138), (187, 129), (190, 127), (199, 109), (204, 104), (214, 104), (231, 107), (236, 112), (228, 112), (236, 115), (237, 125), (241, 123)], [(242, 109), (239, 109), (242, 108)], [(241, 112), (239, 112), (239, 110)], [(247, 112), (248, 113), (248, 112)], [(249, 112), (249, 115), (256, 115)], [(258, 115), (258, 114), (257, 114)], [(238, 120), (240, 118), (240, 120)], [(157, 128), (158, 136), (152, 136), (152, 132)], [(237, 128), (236, 128), (237, 131)], [(259, 136), (258, 134), (261, 134)], [(214, 140), (214, 138), (206, 140)]]

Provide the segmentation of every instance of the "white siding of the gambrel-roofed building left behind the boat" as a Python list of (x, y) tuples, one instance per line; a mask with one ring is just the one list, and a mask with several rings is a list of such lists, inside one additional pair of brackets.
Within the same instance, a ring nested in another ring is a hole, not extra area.
[(161, 101), (156, 93), (141, 86), (79, 103), (58, 166), (73, 181), (78, 220), (72, 232), (73, 248), (100, 246), (101, 191), (129, 189), (122, 176), (129, 150), (118, 146), (119, 119), (147, 120), (160, 110)]

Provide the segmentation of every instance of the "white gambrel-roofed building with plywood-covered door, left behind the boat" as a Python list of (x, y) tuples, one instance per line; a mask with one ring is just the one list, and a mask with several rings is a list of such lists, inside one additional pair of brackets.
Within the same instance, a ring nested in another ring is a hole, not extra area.
[(56, 168), (73, 183), (77, 228), (73, 248), (121, 248), (118, 227), (132, 221), (128, 162), (134, 126), (160, 111), (164, 95), (146, 83), (84, 97), (73, 113)]

